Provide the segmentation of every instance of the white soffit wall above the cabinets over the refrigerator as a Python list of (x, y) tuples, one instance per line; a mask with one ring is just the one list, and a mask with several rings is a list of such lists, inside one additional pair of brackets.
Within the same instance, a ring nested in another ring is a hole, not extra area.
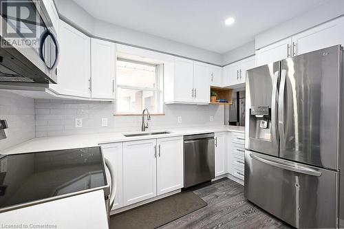
[[(286, 10), (286, 9), (285, 9)], [(290, 6), (292, 10), (292, 6)], [(255, 37), (255, 49), (275, 43), (344, 14), (344, 1), (332, 0)]]

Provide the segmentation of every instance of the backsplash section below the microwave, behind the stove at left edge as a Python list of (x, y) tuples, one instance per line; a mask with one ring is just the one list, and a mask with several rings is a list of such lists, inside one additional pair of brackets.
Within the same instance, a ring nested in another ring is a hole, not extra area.
[(35, 136), (34, 100), (0, 91), (0, 119), (8, 122), (8, 138), (0, 140), (0, 151)]

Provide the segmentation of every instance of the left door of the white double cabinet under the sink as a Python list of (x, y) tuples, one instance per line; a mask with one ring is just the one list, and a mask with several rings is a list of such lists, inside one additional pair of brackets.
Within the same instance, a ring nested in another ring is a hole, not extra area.
[(123, 143), (124, 206), (156, 196), (156, 139)]

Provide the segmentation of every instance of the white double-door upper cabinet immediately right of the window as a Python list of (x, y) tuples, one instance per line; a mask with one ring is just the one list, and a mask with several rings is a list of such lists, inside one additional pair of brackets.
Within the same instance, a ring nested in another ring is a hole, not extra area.
[(175, 57), (173, 70), (168, 73), (164, 75), (165, 103), (208, 104), (209, 65)]

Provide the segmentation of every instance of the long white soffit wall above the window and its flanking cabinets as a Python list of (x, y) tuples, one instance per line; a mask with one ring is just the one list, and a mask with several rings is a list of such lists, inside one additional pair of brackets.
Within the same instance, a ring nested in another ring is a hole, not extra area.
[(83, 30), (88, 35), (109, 39), (117, 43), (184, 56), (197, 61), (222, 65), (222, 54), (94, 19), (94, 17), (74, 3), (74, 1), (55, 1), (61, 19), (71, 23), (76, 28), (80, 28), (80, 30)]

